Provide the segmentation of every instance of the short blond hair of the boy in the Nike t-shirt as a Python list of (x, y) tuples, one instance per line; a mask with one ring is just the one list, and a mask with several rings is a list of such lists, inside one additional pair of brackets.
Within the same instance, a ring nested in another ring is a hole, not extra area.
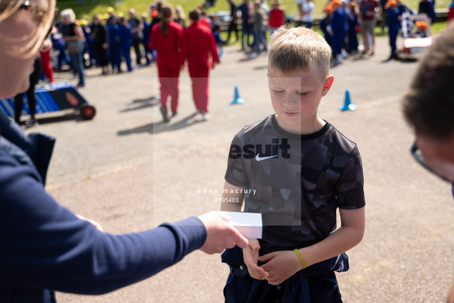
[(288, 23), (277, 29), (269, 41), (268, 68), (282, 73), (316, 71), (325, 81), (330, 71), (331, 47), (311, 29)]

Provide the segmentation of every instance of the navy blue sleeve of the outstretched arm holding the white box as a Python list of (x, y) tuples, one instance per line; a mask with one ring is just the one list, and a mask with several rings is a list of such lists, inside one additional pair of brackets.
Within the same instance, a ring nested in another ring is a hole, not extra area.
[(123, 235), (102, 233), (57, 204), (36, 172), (0, 156), (0, 288), (104, 294), (146, 279), (200, 248), (195, 217)]

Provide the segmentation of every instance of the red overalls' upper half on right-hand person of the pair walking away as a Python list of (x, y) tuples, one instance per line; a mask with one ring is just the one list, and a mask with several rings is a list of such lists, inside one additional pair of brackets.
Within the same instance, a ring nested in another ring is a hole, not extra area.
[(219, 62), (213, 33), (200, 21), (192, 23), (183, 33), (183, 53), (189, 65), (209, 66), (208, 53)]

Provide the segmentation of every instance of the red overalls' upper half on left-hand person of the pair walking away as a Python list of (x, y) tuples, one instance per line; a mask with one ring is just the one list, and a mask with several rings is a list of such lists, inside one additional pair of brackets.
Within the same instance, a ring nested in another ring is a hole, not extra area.
[(156, 61), (159, 63), (178, 63), (182, 65), (185, 61), (182, 52), (183, 28), (180, 24), (170, 21), (168, 33), (162, 34), (160, 24), (157, 23), (151, 29), (148, 47), (157, 52)]

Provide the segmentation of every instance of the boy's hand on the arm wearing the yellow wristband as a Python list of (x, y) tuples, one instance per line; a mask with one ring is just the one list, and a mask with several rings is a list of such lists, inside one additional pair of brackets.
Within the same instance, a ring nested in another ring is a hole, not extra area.
[(260, 257), (259, 260), (268, 261), (260, 267), (268, 273), (266, 280), (271, 285), (279, 285), (303, 269), (300, 259), (291, 250), (269, 253)]

